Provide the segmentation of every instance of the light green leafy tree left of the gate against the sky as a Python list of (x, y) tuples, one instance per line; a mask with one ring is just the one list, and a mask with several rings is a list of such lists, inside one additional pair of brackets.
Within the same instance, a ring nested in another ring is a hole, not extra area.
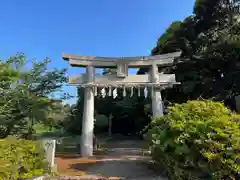
[(27, 62), (23, 54), (0, 61), (0, 137), (31, 135), (34, 124), (49, 124), (49, 112), (55, 107), (49, 96), (66, 81), (66, 69), (49, 70), (49, 62)]

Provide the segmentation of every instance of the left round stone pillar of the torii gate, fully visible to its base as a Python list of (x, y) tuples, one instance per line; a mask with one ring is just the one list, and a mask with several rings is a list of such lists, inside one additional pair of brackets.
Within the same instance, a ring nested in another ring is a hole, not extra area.
[[(88, 82), (94, 82), (95, 69), (86, 67)], [(81, 155), (93, 155), (93, 128), (94, 128), (94, 88), (86, 87), (84, 91), (84, 111), (81, 135)]]

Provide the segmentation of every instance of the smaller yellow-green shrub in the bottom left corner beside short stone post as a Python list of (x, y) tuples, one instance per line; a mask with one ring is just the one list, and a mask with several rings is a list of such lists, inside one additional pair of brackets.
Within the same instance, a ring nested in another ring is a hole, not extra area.
[(44, 150), (37, 142), (14, 136), (0, 140), (0, 180), (31, 178), (46, 170)]

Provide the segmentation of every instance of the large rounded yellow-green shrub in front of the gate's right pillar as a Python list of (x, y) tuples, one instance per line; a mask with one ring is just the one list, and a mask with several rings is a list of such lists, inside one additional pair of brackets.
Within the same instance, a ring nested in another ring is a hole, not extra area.
[(237, 179), (240, 116), (220, 102), (189, 101), (152, 120), (147, 140), (169, 179)]

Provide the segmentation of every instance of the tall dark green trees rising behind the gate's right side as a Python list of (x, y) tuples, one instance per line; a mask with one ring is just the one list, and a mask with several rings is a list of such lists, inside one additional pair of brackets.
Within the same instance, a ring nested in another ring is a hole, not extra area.
[(165, 90), (164, 97), (173, 103), (223, 100), (234, 108), (240, 92), (239, 28), (231, 0), (196, 0), (193, 14), (173, 22), (152, 50), (152, 55), (182, 51), (175, 66), (168, 68), (181, 85)]

